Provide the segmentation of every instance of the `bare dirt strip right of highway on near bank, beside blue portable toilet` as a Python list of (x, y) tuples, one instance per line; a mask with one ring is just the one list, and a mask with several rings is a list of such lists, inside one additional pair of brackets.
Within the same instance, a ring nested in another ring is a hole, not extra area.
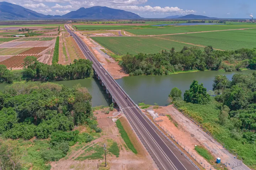
[[(155, 109), (155, 112), (158, 114), (171, 115), (172, 119), (177, 122), (178, 127), (172, 123), (166, 116), (159, 116), (155, 120), (162, 120), (159, 122), (161, 126), (167, 128), (170, 131), (170, 135), (174, 135), (177, 139), (182, 142), (182, 146), (186, 146), (186, 150), (189, 148), (190, 152), (192, 151), (194, 155), (197, 156), (197, 161), (199, 159), (203, 164), (209, 165), (209, 163), (204, 160), (197, 152), (194, 150), (195, 145), (202, 145), (214, 155), (215, 158), (219, 157), (222, 160), (222, 163), (228, 162), (229, 168), (231, 166), (236, 165), (239, 160), (234, 158), (234, 155), (230, 154), (226, 151), (218, 142), (216, 142), (212, 137), (207, 135), (200, 127), (194, 124), (191, 120), (185, 117), (181, 112), (179, 112), (172, 105), (166, 107), (159, 107)], [(247, 166), (242, 165), (238, 166), (236, 169), (246, 170)]]

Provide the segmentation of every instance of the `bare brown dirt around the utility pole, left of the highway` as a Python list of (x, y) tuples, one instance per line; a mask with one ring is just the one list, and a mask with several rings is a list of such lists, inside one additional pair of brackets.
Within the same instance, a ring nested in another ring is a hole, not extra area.
[[(101, 112), (101, 111), (98, 111)], [(104, 114), (103, 112), (98, 113), (97, 115)], [(110, 115), (110, 114), (109, 114)], [(111, 115), (110, 115), (111, 116)], [(122, 119), (122, 118), (121, 118)], [(146, 153), (142, 146), (140, 146), (140, 150), (138, 154), (134, 154), (129, 149), (126, 149), (125, 142), (121, 138), (116, 123), (112, 121), (111, 118), (99, 118), (97, 119), (98, 126), (102, 128), (102, 135), (101, 137), (97, 138), (96, 140), (86, 143), (86, 147), (92, 145), (102, 145), (103, 143), (107, 143), (109, 140), (113, 140), (117, 142), (120, 155), (117, 158), (114, 155), (107, 154), (107, 167), (100, 169), (105, 170), (155, 170), (155, 164), (151, 159), (150, 155)], [(123, 119), (122, 121), (126, 121)], [(129, 129), (131, 129), (129, 127)], [(79, 129), (80, 131), (83, 130), (82, 128)], [(130, 130), (132, 131), (132, 130)], [(140, 143), (137, 142), (139, 145)], [(108, 146), (107, 146), (108, 147)], [(73, 148), (72, 152), (69, 153), (65, 158), (59, 160), (59, 162), (53, 162), (52, 170), (97, 170), (97, 164), (101, 164), (104, 162), (104, 159), (95, 159), (95, 160), (74, 160), (79, 157), (82, 153), (84, 153), (85, 146), (80, 149), (76, 148), (76, 145), (71, 147)]]

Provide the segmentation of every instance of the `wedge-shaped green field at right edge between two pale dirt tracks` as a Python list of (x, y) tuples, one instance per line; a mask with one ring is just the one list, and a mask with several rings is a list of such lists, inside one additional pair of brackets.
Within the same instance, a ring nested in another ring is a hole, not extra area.
[(213, 48), (221, 50), (251, 49), (256, 47), (256, 29), (166, 35), (159, 37), (197, 45), (212, 45)]

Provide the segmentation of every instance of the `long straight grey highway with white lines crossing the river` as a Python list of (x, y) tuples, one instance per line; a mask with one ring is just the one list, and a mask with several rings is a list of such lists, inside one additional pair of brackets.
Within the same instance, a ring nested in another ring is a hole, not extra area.
[(93, 62), (94, 70), (132, 124), (133, 129), (143, 142), (155, 163), (158, 165), (159, 169), (195, 170), (196, 168), (181, 155), (181, 153), (149, 122), (148, 119), (145, 118), (117, 82), (101, 66), (79, 36), (74, 32), (71, 32), (66, 25), (65, 28), (73, 36), (86, 58)]

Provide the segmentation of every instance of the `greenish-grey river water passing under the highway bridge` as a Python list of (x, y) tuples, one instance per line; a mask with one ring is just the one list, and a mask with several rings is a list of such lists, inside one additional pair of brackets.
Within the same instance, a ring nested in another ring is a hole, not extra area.
[[(135, 103), (144, 102), (147, 104), (158, 103), (160, 106), (168, 104), (168, 95), (173, 87), (178, 87), (182, 91), (190, 88), (190, 84), (195, 79), (203, 83), (207, 91), (212, 90), (213, 79), (215, 75), (226, 75), (230, 80), (235, 73), (252, 73), (254, 70), (244, 70), (242, 72), (222, 72), (222, 71), (204, 71), (179, 73), (171, 75), (140, 75), (132, 77), (123, 77), (116, 80), (117, 83), (126, 91)], [(54, 83), (63, 84), (68, 87), (80, 83), (86, 87), (92, 95), (92, 106), (108, 106), (111, 100), (108, 98), (106, 91), (103, 90), (98, 79), (80, 79), (55, 81)], [(0, 90), (4, 90), (7, 84), (0, 84)]]

